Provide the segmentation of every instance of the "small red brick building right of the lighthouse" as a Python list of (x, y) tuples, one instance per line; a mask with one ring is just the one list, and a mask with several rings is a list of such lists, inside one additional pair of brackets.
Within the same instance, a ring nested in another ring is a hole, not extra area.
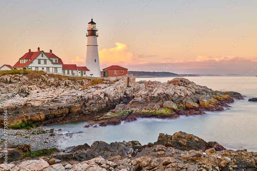
[(103, 77), (119, 77), (126, 76), (127, 74), (128, 69), (118, 65), (112, 65), (103, 69)]

